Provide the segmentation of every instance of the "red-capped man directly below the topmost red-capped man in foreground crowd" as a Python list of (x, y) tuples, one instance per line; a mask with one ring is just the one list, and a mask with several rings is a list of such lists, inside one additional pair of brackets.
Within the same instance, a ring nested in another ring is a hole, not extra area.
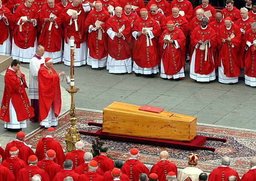
[(50, 180), (52, 180), (55, 175), (62, 170), (61, 166), (56, 164), (53, 160), (55, 159), (56, 153), (52, 149), (48, 149), (45, 155), (45, 159), (38, 161), (37, 166), (47, 172), (47, 174), (50, 177)]

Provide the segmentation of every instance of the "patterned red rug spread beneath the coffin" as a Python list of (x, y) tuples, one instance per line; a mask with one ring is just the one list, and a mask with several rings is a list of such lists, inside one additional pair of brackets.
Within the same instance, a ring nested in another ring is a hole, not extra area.
[[(79, 130), (96, 132), (99, 127), (88, 126), (90, 121), (102, 123), (102, 112), (89, 110), (76, 110), (76, 127)], [(55, 139), (59, 141), (65, 149), (65, 134), (69, 128), (69, 112), (65, 112), (59, 117), (59, 123), (56, 129)], [(46, 129), (37, 129), (26, 138), (26, 143), (31, 144), (33, 148), (39, 139), (46, 135)], [(235, 169), (239, 175), (243, 175), (249, 170), (250, 158), (256, 155), (256, 132), (239, 131), (236, 129), (226, 129), (213, 126), (197, 126), (197, 135), (226, 138), (227, 142), (207, 141), (203, 146), (214, 147), (215, 152), (197, 150), (194, 153), (199, 155), (198, 167), (206, 172), (211, 172), (214, 168), (220, 166), (221, 157), (227, 155), (231, 158), (230, 167)], [(81, 140), (85, 144), (85, 151), (90, 151), (91, 142), (95, 137), (81, 135)], [(140, 151), (140, 161), (145, 164), (155, 164), (159, 160), (159, 153), (162, 150), (169, 152), (169, 159), (177, 165), (178, 168), (187, 167), (187, 156), (191, 150), (177, 149), (170, 147), (161, 147), (148, 144), (136, 144), (131, 142), (104, 140), (110, 148), (109, 152), (113, 158), (126, 160), (128, 150), (136, 147)]]

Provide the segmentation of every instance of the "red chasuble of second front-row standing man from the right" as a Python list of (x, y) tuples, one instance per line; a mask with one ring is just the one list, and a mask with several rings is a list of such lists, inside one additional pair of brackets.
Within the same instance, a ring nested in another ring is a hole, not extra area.
[[(231, 34), (235, 37), (231, 42), (222, 43), (222, 39), (227, 39)], [(232, 47), (234, 45), (235, 47)], [(240, 75), (240, 58), (239, 52), (241, 47), (241, 31), (238, 26), (232, 24), (231, 29), (227, 30), (226, 26), (221, 26), (218, 33), (218, 66), (221, 66), (220, 60), (224, 66), (224, 74), (227, 77), (237, 77)]]

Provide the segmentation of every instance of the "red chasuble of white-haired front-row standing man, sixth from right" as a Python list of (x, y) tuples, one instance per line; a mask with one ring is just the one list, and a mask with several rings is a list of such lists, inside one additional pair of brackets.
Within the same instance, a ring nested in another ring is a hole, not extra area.
[(125, 60), (130, 58), (131, 55), (131, 23), (127, 17), (121, 15), (117, 17), (114, 15), (108, 19), (106, 29), (112, 28), (112, 30), (118, 33), (119, 29), (122, 26), (125, 26), (125, 29), (122, 31), (125, 40), (122, 37), (114, 37), (112, 40), (108, 36), (108, 54), (113, 57), (115, 60)]

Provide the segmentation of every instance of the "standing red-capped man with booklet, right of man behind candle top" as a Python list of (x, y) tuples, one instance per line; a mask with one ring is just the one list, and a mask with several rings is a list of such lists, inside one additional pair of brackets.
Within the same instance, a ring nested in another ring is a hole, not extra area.
[(85, 29), (88, 30), (87, 64), (92, 66), (92, 69), (102, 70), (107, 65), (106, 23), (109, 18), (108, 11), (105, 11), (101, 1), (97, 0), (85, 21)]

